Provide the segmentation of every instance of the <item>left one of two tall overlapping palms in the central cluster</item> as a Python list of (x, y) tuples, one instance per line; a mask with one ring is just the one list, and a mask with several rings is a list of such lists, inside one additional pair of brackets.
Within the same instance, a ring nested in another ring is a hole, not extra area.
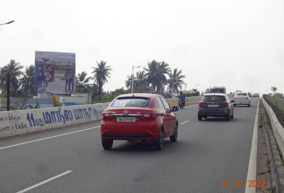
[(155, 92), (156, 86), (159, 83), (159, 62), (157, 62), (156, 60), (152, 60), (151, 62), (148, 62), (147, 66), (148, 68), (144, 67), (144, 70), (146, 71), (145, 75), (147, 76), (146, 81), (151, 84), (151, 88)]

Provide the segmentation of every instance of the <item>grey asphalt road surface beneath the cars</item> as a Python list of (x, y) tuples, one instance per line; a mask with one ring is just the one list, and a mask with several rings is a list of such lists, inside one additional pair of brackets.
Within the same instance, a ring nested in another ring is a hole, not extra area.
[[(0, 139), (0, 192), (18, 192), (66, 171), (72, 172), (27, 192), (244, 192), (257, 101), (235, 107), (230, 122), (198, 121), (197, 105), (177, 111), (178, 140), (165, 139), (162, 151), (148, 141), (114, 141), (104, 150), (100, 128), (88, 129), (100, 121)], [(235, 180), (244, 187), (235, 187)]]

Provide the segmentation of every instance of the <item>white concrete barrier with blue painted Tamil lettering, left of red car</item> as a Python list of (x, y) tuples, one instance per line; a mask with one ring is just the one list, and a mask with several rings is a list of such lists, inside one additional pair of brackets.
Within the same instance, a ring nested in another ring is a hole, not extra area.
[(0, 138), (97, 121), (109, 104), (0, 112)]

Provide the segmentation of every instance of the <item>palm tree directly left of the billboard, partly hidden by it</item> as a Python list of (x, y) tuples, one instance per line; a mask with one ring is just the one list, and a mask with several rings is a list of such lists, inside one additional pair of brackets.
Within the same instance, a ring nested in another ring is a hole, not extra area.
[(25, 71), (22, 73), (23, 77), (19, 79), (21, 88), (24, 90), (24, 93), (28, 95), (28, 93), (34, 93), (34, 85), (35, 85), (35, 66), (30, 65), (26, 67)]

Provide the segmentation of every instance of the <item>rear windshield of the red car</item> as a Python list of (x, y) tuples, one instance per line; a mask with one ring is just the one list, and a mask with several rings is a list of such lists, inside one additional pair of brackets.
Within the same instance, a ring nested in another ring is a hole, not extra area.
[(112, 107), (148, 107), (150, 100), (147, 97), (118, 97)]

